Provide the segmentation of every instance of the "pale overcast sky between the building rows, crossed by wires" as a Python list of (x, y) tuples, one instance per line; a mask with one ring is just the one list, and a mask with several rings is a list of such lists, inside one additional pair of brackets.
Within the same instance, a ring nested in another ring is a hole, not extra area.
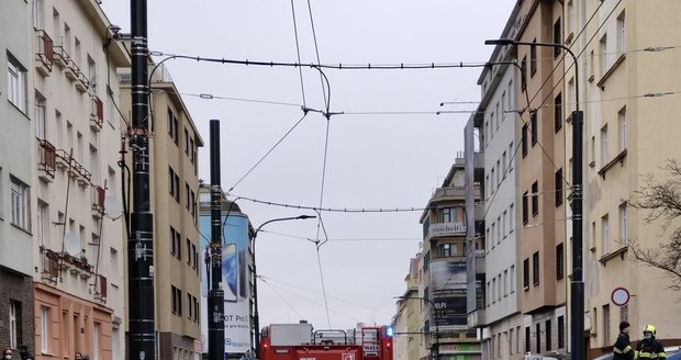
[[(308, 1), (294, 0), (302, 63), (316, 63)], [(322, 64), (483, 63), (515, 0), (311, 1)], [(104, 0), (112, 23), (130, 32), (130, 1)], [(150, 50), (202, 57), (297, 63), (290, 1), (149, 0)], [(160, 60), (157, 57), (156, 60)], [(166, 63), (185, 95), (205, 147), (200, 177), (210, 180), (209, 120), (221, 120), (222, 187), (245, 196), (334, 209), (423, 207), (464, 150), (469, 114), (308, 116), (253, 172), (239, 179), (303, 116), (299, 69)], [(325, 70), (332, 112), (436, 112), (446, 101), (478, 101), (479, 68)], [(302, 70), (304, 104), (323, 110), (320, 74)], [(327, 127), (328, 125), (328, 127)], [(328, 130), (328, 137), (326, 136)], [(327, 138), (327, 142), (326, 142)], [(324, 149), (326, 170), (324, 168)], [(238, 182), (238, 184), (237, 184)], [(254, 227), (312, 211), (237, 202)], [(315, 328), (388, 324), (394, 296), (405, 290), (409, 259), (418, 251), (422, 212), (322, 213), (328, 243), (320, 248), (317, 221), (269, 224), (257, 239), (260, 325), (308, 319)], [(324, 239), (324, 234), (320, 233)], [(203, 240), (202, 240), (203, 241)]]

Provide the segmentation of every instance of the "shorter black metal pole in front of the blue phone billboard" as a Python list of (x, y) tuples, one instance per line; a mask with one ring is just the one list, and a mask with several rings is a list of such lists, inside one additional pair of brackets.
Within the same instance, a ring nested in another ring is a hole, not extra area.
[(222, 190), (220, 187), (220, 121), (211, 120), (211, 290), (208, 294), (208, 356), (225, 356), (224, 291), (222, 290)]

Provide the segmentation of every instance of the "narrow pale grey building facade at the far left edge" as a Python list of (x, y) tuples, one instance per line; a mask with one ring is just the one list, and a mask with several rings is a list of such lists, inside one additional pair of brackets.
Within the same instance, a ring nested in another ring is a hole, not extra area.
[[(0, 2), (0, 348), (33, 351), (33, 67), (31, 5)], [(32, 72), (32, 71), (31, 71)], [(9, 131), (11, 130), (11, 131)], [(23, 156), (18, 156), (22, 154)]]

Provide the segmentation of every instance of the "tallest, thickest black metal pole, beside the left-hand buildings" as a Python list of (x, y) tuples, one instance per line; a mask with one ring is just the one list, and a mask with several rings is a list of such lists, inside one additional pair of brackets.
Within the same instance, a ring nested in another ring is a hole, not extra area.
[(129, 359), (156, 359), (154, 322), (154, 214), (149, 204), (147, 8), (131, 0), (133, 212), (127, 238)]

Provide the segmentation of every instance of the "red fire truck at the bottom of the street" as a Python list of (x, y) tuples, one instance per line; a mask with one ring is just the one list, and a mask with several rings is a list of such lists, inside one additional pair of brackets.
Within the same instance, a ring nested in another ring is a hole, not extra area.
[(260, 360), (392, 360), (392, 328), (313, 330), (311, 324), (272, 324), (260, 333)]

